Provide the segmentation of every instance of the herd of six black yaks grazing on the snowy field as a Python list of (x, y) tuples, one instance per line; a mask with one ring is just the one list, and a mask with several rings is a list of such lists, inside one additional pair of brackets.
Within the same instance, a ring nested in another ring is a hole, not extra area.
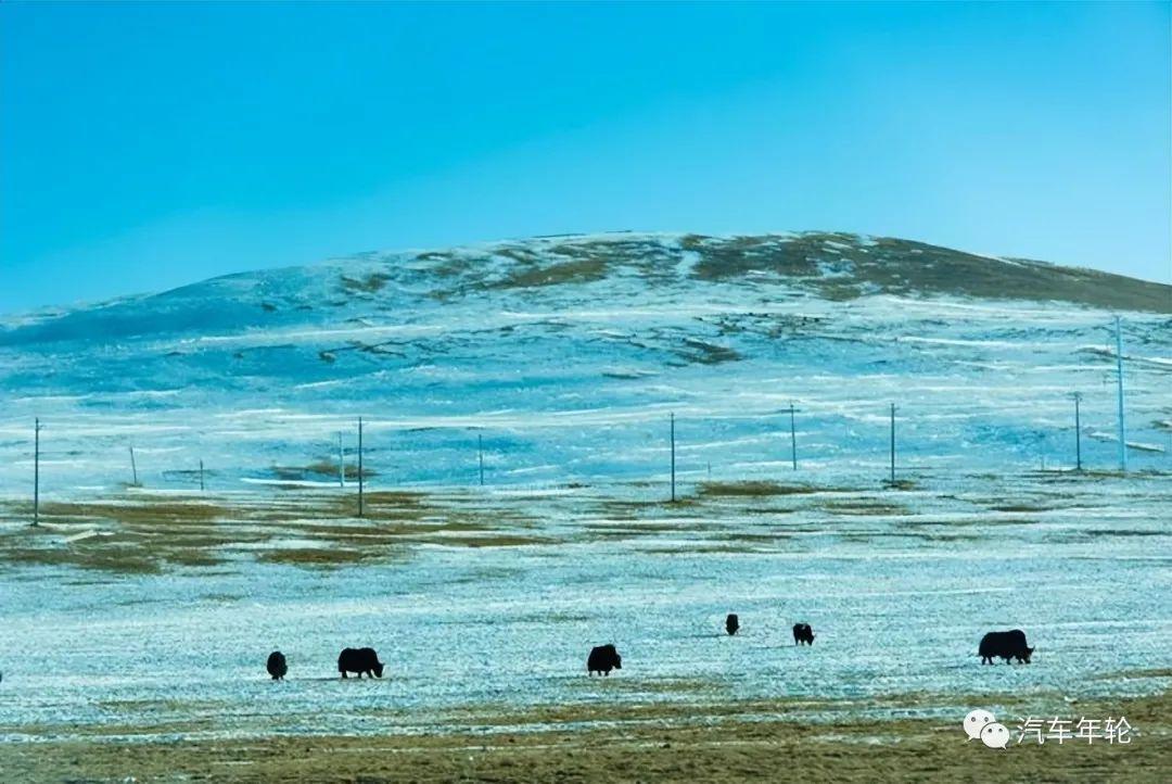
[[(736, 613), (729, 613), (728, 618), (724, 619), (724, 630), (729, 635), (735, 635), (740, 629), (741, 619)], [(813, 639), (813, 628), (809, 623), (793, 625), (793, 645), (812, 646)], [(993, 660), (999, 657), (1004, 659), (1007, 664), (1011, 663), (1014, 659), (1028, 664), (1033, 653), (1034, 648), (1027, 646), (1026, 633), (1021, 629), (989, 632), (981, 638), (981, 643), (977, 646), (977, 655), (981, 656), (982, 664), (992, 664)], [(274, 681), (284, 680), (289, 669), (285, 661), (285, 654), (280, 650), (268, 654), (266, 669)], [(363, 675), (382, 677), (382, 669), (383, 663), (379, 661), (379, 654), (375, 653), (374, 648), (345, 648), (338, 656), (338, 671), (341, 673), (342, 677), (347, 677), (347, 673), (355, 673), (359, 679)], [(597, 646), (591, 649), (590, 656), (586, 657), (586, 671), (590, 675), (595, 673), (609, 675), (611, 670), (615, 669), (622, 669), (622, 656), (619, 655), (613, 645)]]

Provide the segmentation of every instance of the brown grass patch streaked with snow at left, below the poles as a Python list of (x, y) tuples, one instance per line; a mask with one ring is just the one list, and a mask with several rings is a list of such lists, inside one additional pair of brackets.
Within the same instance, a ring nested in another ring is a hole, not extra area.
[[(332, 568), (406, 557), (411, 546), (505, 547), (543, 544), (533, 521), (512, 510), (477, 511), (421, 493), (367, 493), (363, 516), (352, 496), (289, 497), (120, 495), (47, 503), (41, 525), (0, 532), (0, 567), (70, 566), (123, 574), (218, 566), (248, 558)], [(0, 507), (0, 519), (28, 520), (28, 504)], [(75, 539), (75, 537), (83, 537)]]

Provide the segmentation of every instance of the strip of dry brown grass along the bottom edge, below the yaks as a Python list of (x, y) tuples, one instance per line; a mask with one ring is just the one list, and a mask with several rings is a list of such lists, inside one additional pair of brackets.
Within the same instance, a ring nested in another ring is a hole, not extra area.
[[(9, 780), (30, 783), (1164, 782), (1172, 766), (1166, 694), (1079, 707), (1082, 715), (1126, 715), (1137, 729), (1129, 744), (1027, 741), (1007, 750), (966, 742), (959, 721), (815, 723), (797, 720), (793, 708), (689, 704), (648, 716), (638, 708), (600, 707), (586, 716), (543, 716), (538, 729), (519, 727), (513, 716), (475, 714), (440, 732), (375, 737), (8, 743), (0, 746), (0, 770)], [(602, 728), (574, 728), (599, 716)]]

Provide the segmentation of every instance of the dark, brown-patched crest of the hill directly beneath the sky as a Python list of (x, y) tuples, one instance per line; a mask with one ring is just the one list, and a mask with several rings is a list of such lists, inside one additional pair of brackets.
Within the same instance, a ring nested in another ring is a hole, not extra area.
[[(640, 275), (647, 285), (691, 281), (694, 285), (790, 286), (837, 301), (880, 293), (955, 295), (1054, 300), (1104, 309), (1172, 313), (1172, 286), (1165, 284), (1049, 261), (984, 255), (919, 240), (820, 231), (721, 237), (611, 232), (449, 248), (368, 251), (313, 265), (231, 273), (158, 293), (25, 314), (20, 319), (22, 323), (0, 326), (0, 343), (12, 342), (23, 329), (36, 330), (80, 313), (116, 315), (120, 308), (141, 307), (146, 302), (165, 305), (192, 294), (202, 299), (210, 293), (246, 295), (245, 289), (250, 286), (272, 288), (274, 278), (306, 277), (305, 271), (312, 270), (336, 271), (334, 282), (339, 291), (333, 294), (361, 296), (395, 286), (400, 293), (413, 292), (441, 301), (491, 291), (518, 293), (550, 286), (590, 285), (613, 274), (628, 273)], [(237, 291), (232, 292), (233, 288)], [(329, 294), (321, 292), (323, 298)], [(307, 309), (307, 305), (312, 307), (306, 302), (292, 306)], [(260, 301), (252, 307), (272, 312), (275, 305)], [(207, 315), (180, 319), (179, 326), (196, 326), (199, 318)], [(243, 326), (253, 326), (252, 321), (245, 318)], [(121, 329), (115, 325), (113, 334), (143, 334), (124, 329), (125, 325)], [(52, 336), (54, 332), (48, 329), (43, 334), (56, 340)], [(64, 334), (70, 332), (66, 329)]]

